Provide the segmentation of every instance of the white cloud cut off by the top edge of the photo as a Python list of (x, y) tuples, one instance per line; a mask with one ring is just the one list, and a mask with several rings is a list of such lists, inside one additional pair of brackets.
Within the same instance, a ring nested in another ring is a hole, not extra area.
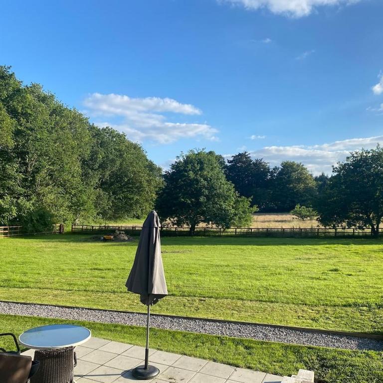
[(220, 3), (242, 5), (246, 9), (267, 8), (273, 13), (285, 13), (294, 17), (310, 14), (316, 7), (323, 5), (347, 5), (360, 0), (217, 0)]

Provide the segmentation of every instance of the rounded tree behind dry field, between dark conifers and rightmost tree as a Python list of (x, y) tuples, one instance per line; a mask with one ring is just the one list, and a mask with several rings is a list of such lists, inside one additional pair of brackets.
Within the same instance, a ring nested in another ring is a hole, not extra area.
[(308, 169), (294, 161), (284, 161), (273, 169), (272, 203), (279, 211), (290, 211), (298, 203), (312, 204), (316, 185)]

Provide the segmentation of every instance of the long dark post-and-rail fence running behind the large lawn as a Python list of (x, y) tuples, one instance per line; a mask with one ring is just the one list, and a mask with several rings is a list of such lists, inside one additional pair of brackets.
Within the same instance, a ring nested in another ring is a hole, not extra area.
[[(105, 233), (123, 230), (129, 235), (139, 235), (142, 226), (72, 225), (73, 233)], [(163, 236), (189, 236), (190, 227), (161, 227)], [(197, 227), (196, 236), (253, 236), (253, 237), (370, 237), (371, 230), (357, 228), (268, 228), (268, 227)]]

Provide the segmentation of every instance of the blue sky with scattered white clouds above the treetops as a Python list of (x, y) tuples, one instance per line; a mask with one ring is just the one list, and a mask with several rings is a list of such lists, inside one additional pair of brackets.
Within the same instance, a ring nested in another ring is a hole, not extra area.
[(13, 0), (1, 12), (1, 64), (163, 167), (206, 148), (330, 173), (383, 141), (382, 0)]

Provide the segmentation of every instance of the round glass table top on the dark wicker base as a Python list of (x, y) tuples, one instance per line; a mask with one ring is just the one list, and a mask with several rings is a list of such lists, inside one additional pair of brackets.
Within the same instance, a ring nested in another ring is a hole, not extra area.
[(48, 325), (23, 332), (19, 342), (29, 349), (53, 350), (85, 343), (91, 332), (86, 327), (75, 325)]

